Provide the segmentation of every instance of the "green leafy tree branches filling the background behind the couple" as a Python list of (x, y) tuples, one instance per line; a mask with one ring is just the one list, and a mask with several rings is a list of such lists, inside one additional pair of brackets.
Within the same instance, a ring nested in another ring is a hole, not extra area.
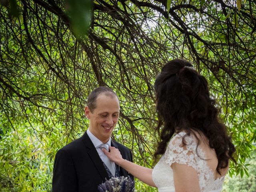
[(255, 0), (94, 0), (87, 35), (80, 32), (88, 6), (78, 21), (78, 6), (67, 10), (68, 2), (0, 5), (1, 188), (50, 190), (54, 155), (86, 130), (83, 108), (97, 86), (120, 97), (113, 138), (151, 166), (152, 85), (173, 58), (190, 60), (208, 79), (237, 149), (230, 173), (248, 174), (256, 141)]

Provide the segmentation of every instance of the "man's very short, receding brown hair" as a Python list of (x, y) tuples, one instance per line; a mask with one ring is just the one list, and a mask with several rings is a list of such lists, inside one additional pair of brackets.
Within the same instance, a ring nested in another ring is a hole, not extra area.
[[(104, 87), (104, 86), (101, 86), (101, 87), (98, 87), (96, 89), (94, 89), (88, 96), (87, 98), (87, 106), (88, 108), (93, 112), (93, 110), (97, 107), (96, 106), (96, 99), (98, 98), (98, 96), (100, 94), (104, 93), (106, 96), (110, 96), (110, 97), (113, 97), (113, 96), (117, 96), (117, 94), (109, 87)], [(118, 99), (119, 100), (119, 99)]]

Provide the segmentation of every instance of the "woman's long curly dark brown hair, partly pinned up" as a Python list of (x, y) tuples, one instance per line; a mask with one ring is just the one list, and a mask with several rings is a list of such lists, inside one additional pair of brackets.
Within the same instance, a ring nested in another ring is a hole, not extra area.
[(184, 130), (185, 136), (194, 134), (198, 144), (200, 140), (195, 132), (208, 138), (218, 158), (219, 174), (228, 166), (229, 159), (236, 162), (234, 145), (226, 126), (218, 118), (220, 111), (209, 94), (208, 83), (190, 62), (180, 59), (167, 62), (156, 77), (154, 88), (158, 113), (156, 131), (160, 135), (155, 158), (164, 154), (174, 133)]

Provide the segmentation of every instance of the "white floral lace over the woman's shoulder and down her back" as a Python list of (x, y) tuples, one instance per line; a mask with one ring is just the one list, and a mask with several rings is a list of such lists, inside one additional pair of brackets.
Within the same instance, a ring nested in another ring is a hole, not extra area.
[(214, 172), (210, 169), (205, 158), (205, 153), (198, 146), (197, 140), (193, 136), (185, 136), (185, 132), (176, 134), (169, 142), (166, 152), (164, 153), (164, 161), (170, 166), (172, 163), (185, 164), (191, 166), (197, 171), (200, 191), (210, 191), (218, 189), (222, 186), (223, 179), (214, 181)]

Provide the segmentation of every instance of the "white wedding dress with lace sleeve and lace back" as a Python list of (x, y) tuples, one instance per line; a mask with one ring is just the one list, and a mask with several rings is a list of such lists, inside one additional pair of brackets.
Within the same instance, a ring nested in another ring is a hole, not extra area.
[(197, 141), (193, 136), (186, 136), (186, 146), (182, 145), (182, 137), (185, 132), (176, 134), (169, 142), (166, 152), (162, 155), (159, 162), (153, 169), (152, 177), (159, 192), (175, 192), (173, 172), (170, 165), (172, 163), (185, 164), (193, 167), (198, 174), (200, 191), (202, 192), (220, 192), (224, 176), (215, 180), (214, 172), (207, 165), (204, 151), (198, 146), (196, 154)]

